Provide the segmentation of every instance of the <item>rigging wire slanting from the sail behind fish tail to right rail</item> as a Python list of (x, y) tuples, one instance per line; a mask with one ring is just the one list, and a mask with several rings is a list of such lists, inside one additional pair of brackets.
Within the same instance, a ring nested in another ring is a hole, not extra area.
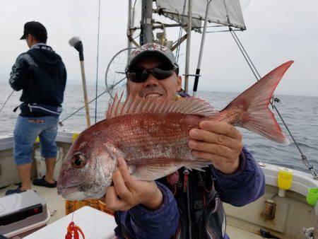
[[(233, 39), (235, 40), (235, 43), (239, 47), (240, 52), (242, 52), (243, 57), (245, 58), (247, 64), (249, 65), (249, 68), (252, 70), (252, 73), (254, 74), (254, 76), (257, 79), (257, 81), (259, 81), (261, 79), (261, 75), (259, 74), (259, 71), (257, 71), (257, 68), (254, 66), (252, 60), (249, 58), (249, 55), (247, 54), (245, 48), (243, 47), (242, 42), (240, 42), (240, 39), (237, 37), (235, 32), (232, 30), (232, 28), (229, 28), (229, 29), (230, 29), (230, 33), (231, 33)], [(288, 128), (288, 126), (285, 123), (283, 117), (281, 116), (281, 113), (278, 111), (278, 108), (276, 107), (276, 105), (274, 105), (274, 103), (272, 101), (270, 103), (271, 103), (271, 107), (273, 107), (273, 109), (276, 110), (278, 116), (281, 118), (281, 121), (283, 122), (283, 125), (285, 126), (285, 129), (287, 129), (288, 134), (293, 139), (293, 142), (294, 142), (296, 148), (300, 152), (302, 163), (304, 163), (305, 166), (311, 171), (312, 177), (314, 178), (314, 180), (318, 180), (318, 175), (317, 175), (316, 171), (314, 170), (314, 166), (310, 165), (309, 161), (307, 160), (307, 156), (305, 156), (305, 154), (302, 153), (302, 150), (300, 149), (300, 146), (298, 145), (297, 141), (295, 140), (293, 134), (290, 132), (290, 129)]]

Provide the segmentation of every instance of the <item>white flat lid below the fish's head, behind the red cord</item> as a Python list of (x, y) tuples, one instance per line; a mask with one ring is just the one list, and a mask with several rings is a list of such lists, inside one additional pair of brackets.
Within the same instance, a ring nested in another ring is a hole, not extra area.
[[(26, 239), (56, 239), (64, 238), (66, 235), (66, 228), (71, 222), (72, 214), (59, 218), (39, 231), (32, 233), (25, 237)], [(74, 223), (79, 226), (86, 239), (111, 239), (115, 238), (114, 228), (116, 223), (114, 217), (105, 212), (93, 209), (90, 206), (83, 206), (74, 212)], [(81, 238), (81, 235), (80, 235)]]

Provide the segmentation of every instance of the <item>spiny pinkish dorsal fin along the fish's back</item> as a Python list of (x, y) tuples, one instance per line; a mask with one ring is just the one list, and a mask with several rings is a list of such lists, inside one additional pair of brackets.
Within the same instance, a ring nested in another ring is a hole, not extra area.
[(109, 105), (106, 117), (136, 114), (140, 112), (181, 113), (187, 115), (201, 115), (211, 117), (216, 111), (208, 102), (199, 98), (181, 98), (167, 100), (165, 98), (141, 98), (139, 95), (129, 95), (124, 103), (121, 102), (123, 93), (116, 93), (114, 101)]

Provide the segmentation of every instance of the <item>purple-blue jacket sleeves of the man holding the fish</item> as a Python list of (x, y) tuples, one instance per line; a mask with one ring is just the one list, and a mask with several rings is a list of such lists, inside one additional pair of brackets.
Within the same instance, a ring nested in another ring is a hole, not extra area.
[[(261, 168), (246, 148), (240, 156), (240, 167), (232, 175), (225, 175), (212, 167), (214, 187), (223, 202), (233, 206), (244, 206), (264, 194), (265, 179)], [(163, 193), (163, 204), (156, 211), (149, 211), (138, 205), (129, 211), (117, 211), (115, 218), (121, 225), (115, 229), (118, 238), (130, 235), (131, 238), (172, 238), (179, 223), (177, 202), (165, 185), (156, 182)], [(120, 228), (120, 229), (119, 229)], [(225, 234), (225, 239), (228, 235)]]

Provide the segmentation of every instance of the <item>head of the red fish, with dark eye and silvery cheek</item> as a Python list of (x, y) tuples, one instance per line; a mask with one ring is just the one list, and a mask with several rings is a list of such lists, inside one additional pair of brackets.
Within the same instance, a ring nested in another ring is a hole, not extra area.
[[(90, 128), (88, 128), (90, 129)], [(105, 142), (86, 129), (73, 142), (61, 166), (58, 193), (69, 200), (99, 199), (112, 182), (116, 160)]]

